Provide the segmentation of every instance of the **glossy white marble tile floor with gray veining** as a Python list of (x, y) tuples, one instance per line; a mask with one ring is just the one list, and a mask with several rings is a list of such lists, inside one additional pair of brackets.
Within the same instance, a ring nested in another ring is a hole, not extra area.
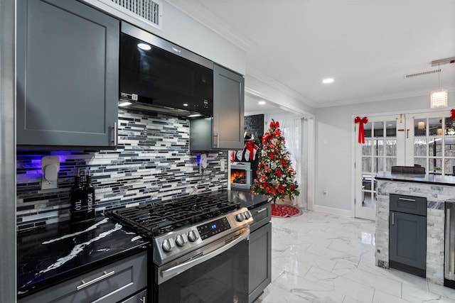
[(272, 218), (272, 283), (255, 303), (455, 302), (455, 290), (375, 266), (375, 222), (318, 211)]

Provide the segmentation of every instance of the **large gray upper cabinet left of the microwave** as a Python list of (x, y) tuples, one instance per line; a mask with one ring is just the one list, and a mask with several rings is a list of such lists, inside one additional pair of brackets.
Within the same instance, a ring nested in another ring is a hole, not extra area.
[(73, 0), (17, 6), (17, 145), (117, 145), (119, 21)]

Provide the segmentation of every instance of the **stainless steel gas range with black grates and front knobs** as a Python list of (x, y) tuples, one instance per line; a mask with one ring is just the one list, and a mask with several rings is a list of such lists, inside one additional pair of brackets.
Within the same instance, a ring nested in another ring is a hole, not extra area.
[(253, 218), (223, 192), (145, 204), (109, 214), (151, 239), (153, 302), (247, 302)]

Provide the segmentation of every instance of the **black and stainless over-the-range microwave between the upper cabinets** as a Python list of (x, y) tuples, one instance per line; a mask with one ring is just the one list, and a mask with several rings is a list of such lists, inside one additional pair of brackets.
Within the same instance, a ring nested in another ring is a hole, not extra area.
[(125, 22), (119, 88), (119, 106), (213, 116), (213, 62)]

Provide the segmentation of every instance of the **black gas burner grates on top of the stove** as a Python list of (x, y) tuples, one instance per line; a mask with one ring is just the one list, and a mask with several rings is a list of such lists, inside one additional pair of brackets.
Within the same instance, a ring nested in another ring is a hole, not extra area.
[(153, 238), (236, 209), (240, 209), (239, 202), (230, 202), (227, 194), (217, 192), (128, 207), (111, 211), (108, 215), (142, 236)]

